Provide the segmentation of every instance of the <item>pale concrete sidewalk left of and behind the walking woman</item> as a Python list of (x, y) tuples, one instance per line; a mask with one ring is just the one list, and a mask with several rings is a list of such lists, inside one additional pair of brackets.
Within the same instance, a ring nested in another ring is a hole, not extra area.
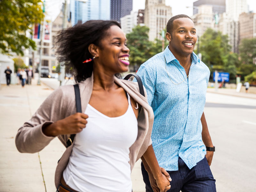
[[(57, 162), (65, 147), (56, 138), (35, 154), (19, 153), (15, 136), (19, 127), (30, 119), (45, 98), (53, 91), (44, 84), (1, 85), (0, 89), (0, 192), (53, 192)], [(45, 183), (45, 184), (44, 184)], [(134, 192), (145, 191), (140, 162), (132, 171)]]

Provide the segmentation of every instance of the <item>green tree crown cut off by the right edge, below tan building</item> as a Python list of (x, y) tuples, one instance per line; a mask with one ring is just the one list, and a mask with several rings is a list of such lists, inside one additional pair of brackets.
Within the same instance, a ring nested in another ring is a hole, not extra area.
[(241, 59), (239, 70), (243, 72), (245, 76), (251, 74), (256, 70), (256, 38), (243, 39), (239, 46), (239, 53)]

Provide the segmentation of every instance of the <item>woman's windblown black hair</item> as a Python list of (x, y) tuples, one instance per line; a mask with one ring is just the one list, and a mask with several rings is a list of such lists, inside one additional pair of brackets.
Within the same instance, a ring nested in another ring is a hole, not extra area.
[(107, 30), (113, 25), (121, 28), (117, 21), (89, 20), (59, 31), (56, 36), (57, 59), (69, 68), (72, 67), (71, 73), (76, 82), (92, 76), (93, 60), (83, 63), (84, 60), (92, 58), (88, 47), (90, 44), (100, 46), (101, 40), (107, 35)]

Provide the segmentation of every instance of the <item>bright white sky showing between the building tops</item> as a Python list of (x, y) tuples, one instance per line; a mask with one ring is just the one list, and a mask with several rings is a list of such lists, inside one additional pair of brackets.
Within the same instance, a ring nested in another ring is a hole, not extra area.
[[(182, 3), (177, 0), (165, 0), (165, 4), (172, 7), (172, 15), (186, 14), (188, 16), (193, 15), (193, 2), (196, 0), (182, 0)], [(214, 1), (214, 0), (212, 0)], [(54, 20), (60, 13), (61, 4), (64, 0), (45, 0), (46, 7), (45, 10), (48, 13), (49, 17)], [(68, 0), (69, 2), (69, 0)], [(247, 0), (249, 5), (249, 11), (256, 13), (256, 1)], [(188, 8), (186, 8), (188, 7)], [(145, 9), (145, 0), (133, 0), (132, 2), (133, 11), (138, 11), (139, 9)]]

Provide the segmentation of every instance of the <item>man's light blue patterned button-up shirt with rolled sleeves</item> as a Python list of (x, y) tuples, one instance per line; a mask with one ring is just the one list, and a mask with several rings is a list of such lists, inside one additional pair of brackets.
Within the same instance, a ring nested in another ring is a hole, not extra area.
[(188, 78), (168, 46), (137, 72), (155, 115), (152, 145), (159, 165), (167, 171), (178, 170), (179, 156), (191, 169), (206, 154), (200, 119), (210, 70), (194, 52), (191, 58)]

